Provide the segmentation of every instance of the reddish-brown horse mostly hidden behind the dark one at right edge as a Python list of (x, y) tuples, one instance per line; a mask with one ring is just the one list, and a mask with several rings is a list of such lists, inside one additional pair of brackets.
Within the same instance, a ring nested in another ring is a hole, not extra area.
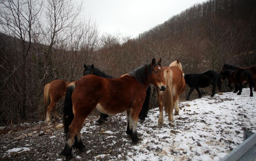
[[(239, 69), (247, 69), (247, 70), (251, 70), (252, 72), (252, 78), (254, 79), (254, 91), (256, 91), (256, 66), (250, 66), (247, 68), (240, 68), (240, 67), (236, 67), (233, 65), (229, 65), (227, 63), (224, 64), (224, 66), (222, 67), (222, 70), (239, 70)], [(232, 89), (232, 87), (229, 87), (230, 89)], [(237, 88), (237, 84), (235, 85), (235, 91), (234, 93), (236, 93), (238, 90)]]

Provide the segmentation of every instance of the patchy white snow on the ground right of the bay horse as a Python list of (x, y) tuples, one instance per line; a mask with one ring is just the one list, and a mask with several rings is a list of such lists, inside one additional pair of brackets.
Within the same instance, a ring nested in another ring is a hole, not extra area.
[[(146, 121), (138, 124), (141, 143), (133, 145), (125, 159), (218, 161), (243, 142), (243, 130), (256, 132), (255, 97), (255, 92), (249, 97), (247, 88), (240, 96), (227, 92), (181, 102), (174, 127), (168, 125), (168, 116), (166, 125), (158, 126), (158, 109), (150, 110)], [(88, 128), (93, 127), (82, 131)]]

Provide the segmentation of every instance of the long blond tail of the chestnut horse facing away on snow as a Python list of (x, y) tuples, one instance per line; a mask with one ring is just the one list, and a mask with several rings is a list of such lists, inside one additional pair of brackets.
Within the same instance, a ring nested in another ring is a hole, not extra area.
[(173, 94), (172, 94), (172, 70), (165, 70), (164, 71), (164, 79), (167, 84), (166, 90), (164, 90), (164, 97), (163, 97), (163, 105), (165, 109), (165, 113), (168, 114), (168, 117), (171, 116), (173, 112)]

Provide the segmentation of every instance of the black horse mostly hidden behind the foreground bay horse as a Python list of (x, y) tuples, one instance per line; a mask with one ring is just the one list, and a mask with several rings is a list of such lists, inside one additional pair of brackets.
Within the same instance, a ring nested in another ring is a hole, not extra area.
[[(89, 65), (86, 66), (84, 64), (84, 76), (92, 74), (98, 77), (103, 77), (103, 78), (114, 78), (106, 73), (104, 73), (103, 71), (99, 70), (98, 68), (94, 67), (94, 65)], [(139, 118), (140, 118), (140, 122), (145, 121), (145, 118), (148, 117), (148, 110), (149, 110), (149, 100), (150, 100), (150, 86), (148, 86), (148, 89), (146, 91), (146, 98), (145, 101), (143, 103), (142, 109), (140, 111), (139, 114)], [(108, 119), (108, 114), (105, 113), (100, 113), (100, 119), (96, 121), (96, 125), (100, 125), (101, 123), (103, 123), (104, 121), (107, 121)]]

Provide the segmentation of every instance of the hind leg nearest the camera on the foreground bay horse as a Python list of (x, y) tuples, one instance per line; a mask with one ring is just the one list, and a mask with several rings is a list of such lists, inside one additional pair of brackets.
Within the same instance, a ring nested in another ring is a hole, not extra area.
[[(72, 156), (72, 145), (74, 142), (74, 138), (77, 135), (77, 133), (80, 133), (80, 130), (83, 126), (84, 120), (85, 118), (88, 116), (89, 114), (87, 114), (86, 116), (81, 116), (81, 115), (76, 115), (74, 116), (74, 120), (72, 121), (72, 123), (70, 124), (69, 128), (68, 128), (68, 135), (66, 137), (66, 144), (64, 147), (64, 150), (62, 150), (61, 154), (64, 155), (66, 157), (66, 161), (69, 160), (73, 160), (73, 156)], [(80, 135), (81, 136), (81, 135)], [(79, 139), (79, 137), (76, 138), (77, 142), (76, 146), (79, 144), (80, 147), (83, 147), (83, 143), (81, 141), (81, 139)]]

